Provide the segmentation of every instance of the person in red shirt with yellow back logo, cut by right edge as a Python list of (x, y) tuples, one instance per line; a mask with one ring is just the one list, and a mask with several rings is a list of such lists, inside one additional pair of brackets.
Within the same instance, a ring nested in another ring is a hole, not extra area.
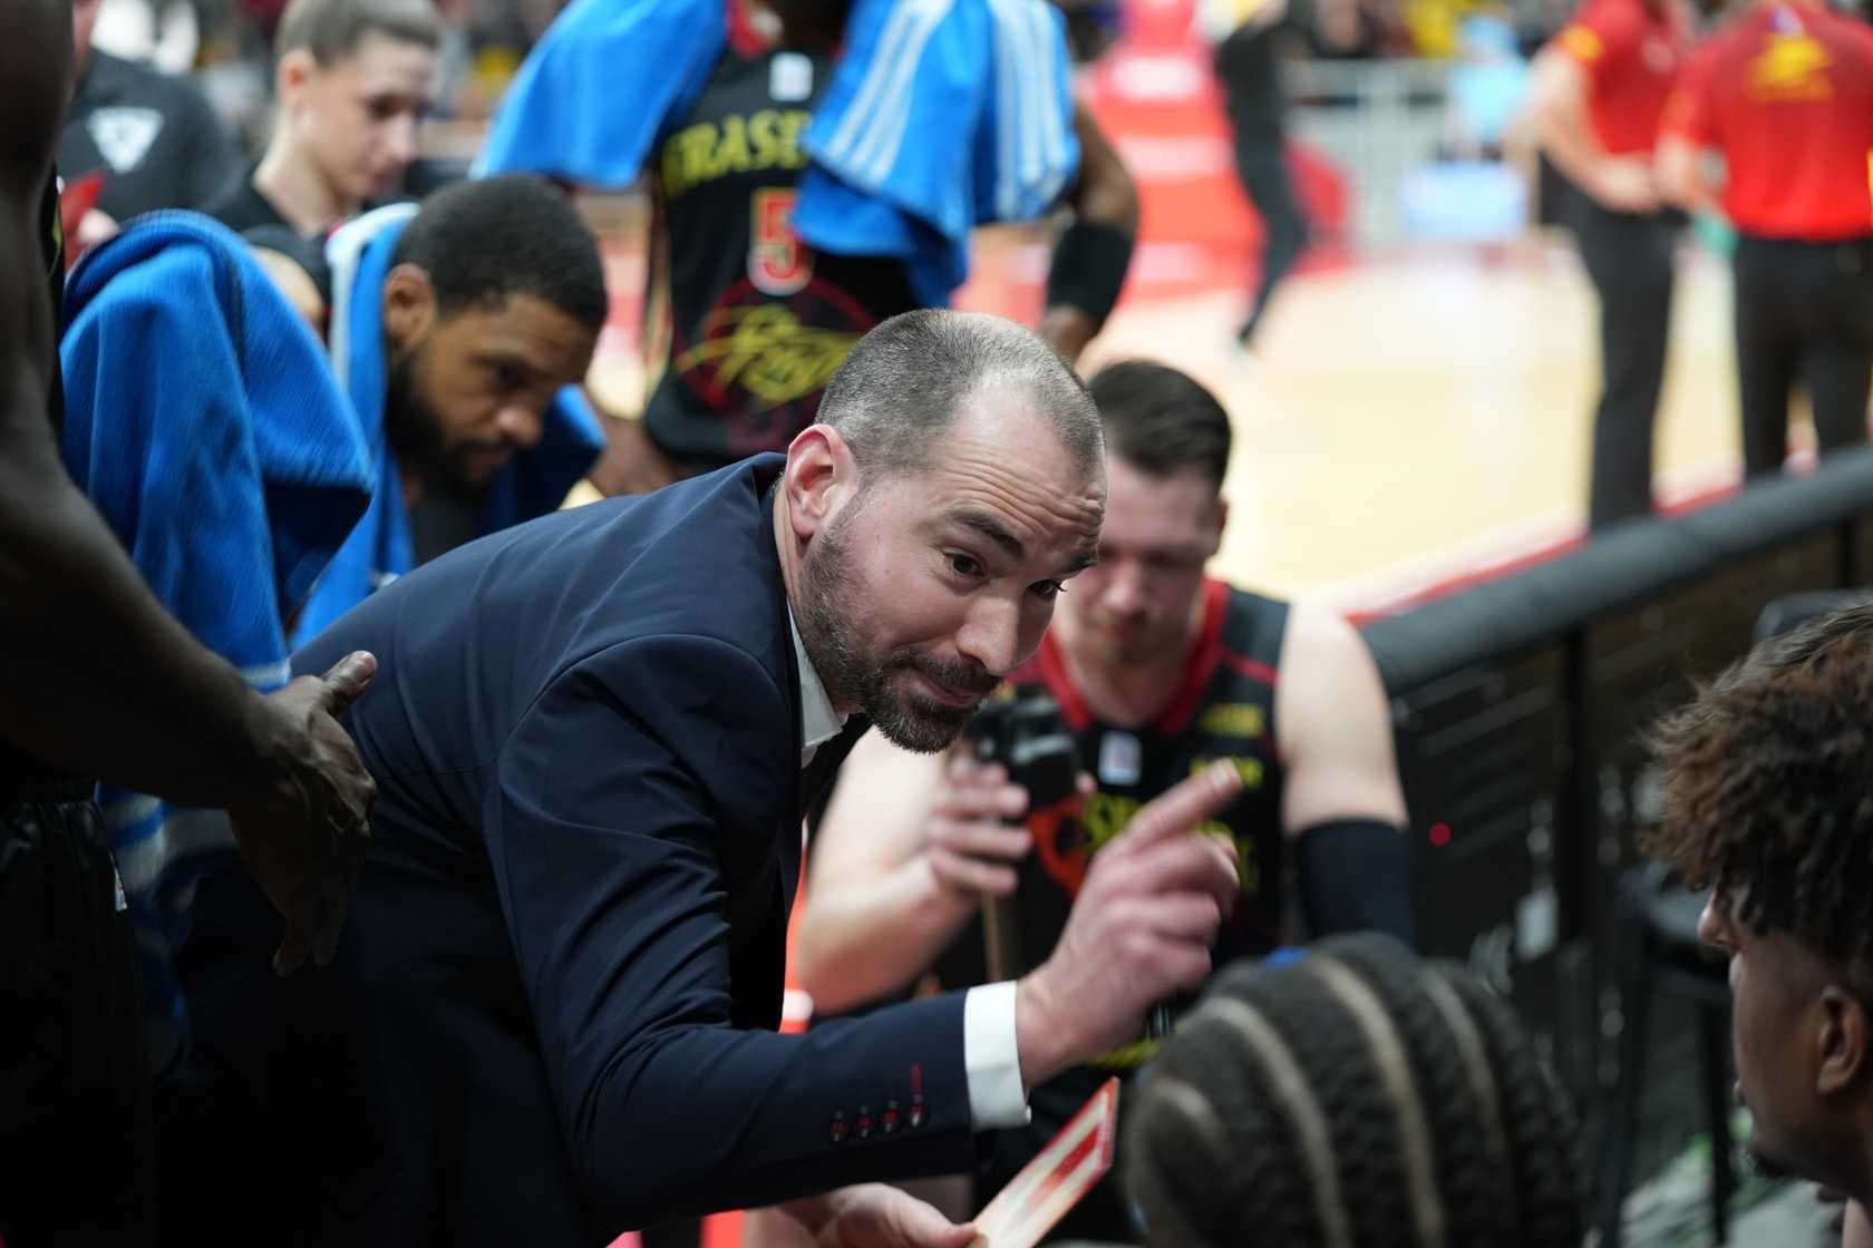
[[(1710, 153), (1725, 174), (1714, 178)], [(1789, 391), (1821, 451), (1867, 436), (1873, 389), (1873, 28), (1761, 0), (1699, 49), (1665, 114), (1659, 181), (1736, 239), (1744, 473), (1781, 470)]]

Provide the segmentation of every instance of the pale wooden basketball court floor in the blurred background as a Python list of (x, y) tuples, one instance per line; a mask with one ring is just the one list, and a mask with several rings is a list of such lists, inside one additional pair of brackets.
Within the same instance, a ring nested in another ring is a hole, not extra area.
[[(1240, 312), (1232, 290), (1129, 303), (1094, 352), (1178, 365), (1229, 408), (1231, 580), (1373, 608), (1579, 533), (1598, 311), (1564, 243), (1302, 275), (1253, 356), (1232, 339)], [(1665, 500), (1738, 472), (1729, 320), (1727, 266), (1688, 249), (1658, 427)]]

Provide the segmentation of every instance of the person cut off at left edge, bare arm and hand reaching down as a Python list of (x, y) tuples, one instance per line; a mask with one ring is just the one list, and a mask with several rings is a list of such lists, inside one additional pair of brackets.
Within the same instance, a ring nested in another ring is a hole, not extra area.
[(52, 152), (67, 0), (0, 22), (0, 1241), (142, 1242), (150, 1102), (129, 917), (92, 776), (234, 812), (287, 917), (275, 965), (330, 956), (371, 776), (333, 713), (369, 655), (255, 692), (170, 619), (58, 458), (64, 239)]

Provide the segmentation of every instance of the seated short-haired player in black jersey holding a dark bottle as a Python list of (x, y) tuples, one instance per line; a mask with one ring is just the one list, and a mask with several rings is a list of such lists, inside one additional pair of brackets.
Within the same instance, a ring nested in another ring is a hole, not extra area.
[[(1229, 758), (1242, 795), (1216, 818), (1242, 878), (1216, 965), (1285, 939), (1384, 930), (1414, 939), (1405, 799), (1384, 687), (1339, 616), (1234, 589), (1204, 574), (1223, 537), (1229, 417), (1197, 382), (1154, 363), (1092, 380), (1105, 423), (1107, 511), (1099, 565), (1060, 597), (1041, 651), (1015, 672), (1051, 696), (1090, 773), (1077, 818), (1030, 812), (1000, 767), (860, 741), (807, 861), (796, 979), (819, 1012), (899, 992), (951, 951), (983, 898), (1013, 896), (1023, 960), (1060, 939), (1088, 859), (1152, 797)], [(1010, 823), (1026, 820), (1025, 827)], [(1290, 896), (1289, 879), (1298, 896)], [(951, 984), (953, 986), (953, 984)], [(1135, 1068), (1141, 1040), (1098, 1068), (1034, 1089), (1034, 1123), (1004, 1132), (978, 1201), (1011, 1179), (1105, 1074)], [(1056, 1235), (1122, 1242), (1135, 1227), (1116, 1183)]]

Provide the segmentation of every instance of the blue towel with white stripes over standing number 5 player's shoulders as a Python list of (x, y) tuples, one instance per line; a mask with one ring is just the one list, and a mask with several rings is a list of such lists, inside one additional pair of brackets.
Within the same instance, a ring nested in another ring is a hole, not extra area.
[[(521, 67), (476, 172), (631, 183), (727, 37), (723, 0), (575, 0)], [(1079, 168), (1071, 120), (1066, 21), (1045, 0), (856, 0), (804, 138), (794, 230), (893, 256), (918, 299), (948, 305), (968, 232), (1040, 217)]]

